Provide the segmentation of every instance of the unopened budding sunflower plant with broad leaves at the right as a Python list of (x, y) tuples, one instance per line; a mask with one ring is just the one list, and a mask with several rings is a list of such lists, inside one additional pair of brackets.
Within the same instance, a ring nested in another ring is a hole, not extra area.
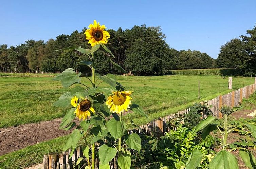
[[(217, 119), (213, 116), (208, 116), (206, 119), (202, 120), (194, 129), (193, 134), (197, 133), (200, 130), (203, 130), (202, 138), (206, 138), (207, 135), (213, 130), (219, 130), (220, 136), (222, 137), (222, 142), (220, 143), (222, 149), (214, 154), (213, 159), (210, 162), (209, 168), (210, 169), (238, 169), (238, 162), (236, 157), (231, 153), (232, 151), (239, 150), (239, 156), (243, 159), (246, 167), (250, 169), (256, 168), (255, 164), (255, 157), (252, 155), (252, 153), (244, 148), (244, 147), (235, 147), (228, 151), (228, 148), (230, 148), (230, 145), (227, 144), (228, 134), (230, 134), (232, 131), (234, 131), (237, 128), (241, 127), (247, 127), (251, 135), (256, 138), (256, 125), (250, 124), (250, 123), (243, 123), (239, 126), (232, 125), (228, 123), (228, 116), (233, 113), (234, 111), (237, 111), (241, 109), (240, 107), (233, 107), (232, 109), (227, 106), (223, 106), (220, 109), (220, 112), (224, 116), (224, 121)], [(193, 157), (194, 153), (191, 153), (191, 157)], [(197, 154), (199, 155), (199, 153)], [(204, 154), (200, 154), (200, 156), (204, 156)], [(197, 163), (196, 159), (190, 158), (187, 161), (187, 165), (194, 165), (193, 167), (190, 167), (191, 169), (195, 169), (200, 163)]]

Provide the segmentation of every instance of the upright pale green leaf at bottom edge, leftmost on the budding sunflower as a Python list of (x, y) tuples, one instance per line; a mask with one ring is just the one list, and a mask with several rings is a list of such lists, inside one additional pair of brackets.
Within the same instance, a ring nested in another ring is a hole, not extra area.
[(202, 158), (203, 154), (199, 150), (193, 150), (186, 162), (186, 169), (195, 169), (200, 165)]

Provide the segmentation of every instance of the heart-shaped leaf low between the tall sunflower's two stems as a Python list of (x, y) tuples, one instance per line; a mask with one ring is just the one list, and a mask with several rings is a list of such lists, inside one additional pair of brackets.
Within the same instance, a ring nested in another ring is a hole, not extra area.
[(99, 148), (99, 161), (101, 165), (108, 164), (116, 155), (116, 149), (102, 145)]

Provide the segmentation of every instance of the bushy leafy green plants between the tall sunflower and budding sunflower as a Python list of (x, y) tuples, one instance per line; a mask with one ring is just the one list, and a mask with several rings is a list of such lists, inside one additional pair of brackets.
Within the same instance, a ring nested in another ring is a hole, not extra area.
[(145, 165), (149, 168), (185, 168), (190, 154), (200, 152), (204, 154), (204, 162), (200, 163), (200, 167), (206, 169), (209, 166), (207, 159), (212, 158), (213, 148), (218, 143), (218, 139), (213, 136), (202, 140), (182, 125), (166, 133), (161, 139), (145, 136), (142, 140), (145, 140), (142, 142), (143, 154), (135, 153), (133, 156), (135, 168), (143, 168)]

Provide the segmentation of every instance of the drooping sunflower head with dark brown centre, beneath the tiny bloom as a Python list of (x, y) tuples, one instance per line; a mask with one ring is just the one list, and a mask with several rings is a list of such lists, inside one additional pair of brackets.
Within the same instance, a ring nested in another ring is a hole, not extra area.
[(81, 120), (81, 118), (86, 119), (87, 116), (91, 116), (91, 113), (95, 113), (95, 110), (92, 107), (92, 103), (88, 99), (84, 99), (83, 101), (80, 102), (80, 104), (77, 106), (75, 110), (76, 116)]

